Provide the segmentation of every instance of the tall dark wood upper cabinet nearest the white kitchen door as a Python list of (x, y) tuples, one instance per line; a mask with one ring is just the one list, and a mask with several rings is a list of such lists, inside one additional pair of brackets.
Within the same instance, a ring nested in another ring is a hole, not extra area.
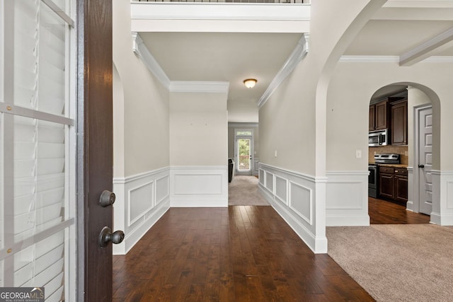
[(391, 144), (408, 144), (408, 100), (391, 103)]

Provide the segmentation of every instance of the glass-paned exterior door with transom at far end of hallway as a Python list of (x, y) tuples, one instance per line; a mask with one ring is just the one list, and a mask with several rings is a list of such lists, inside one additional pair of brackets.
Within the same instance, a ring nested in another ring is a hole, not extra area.
[(252, 175), (253, 172), (253, 130), (236, 129), (234, 131), (234, 157), (236, 175)]

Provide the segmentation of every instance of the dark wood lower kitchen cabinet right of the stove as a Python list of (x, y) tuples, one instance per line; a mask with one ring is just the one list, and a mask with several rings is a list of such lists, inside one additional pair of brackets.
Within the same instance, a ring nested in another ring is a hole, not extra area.
[(379, 167), (379, 197), (406, 205), (408, 201), (408, 170)]

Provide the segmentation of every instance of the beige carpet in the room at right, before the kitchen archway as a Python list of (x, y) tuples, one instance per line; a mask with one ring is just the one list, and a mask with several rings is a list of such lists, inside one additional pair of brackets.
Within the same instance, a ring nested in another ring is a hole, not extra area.
[(377, 301), (453, 301), (453, 228), (328, 227), (328, 255)]

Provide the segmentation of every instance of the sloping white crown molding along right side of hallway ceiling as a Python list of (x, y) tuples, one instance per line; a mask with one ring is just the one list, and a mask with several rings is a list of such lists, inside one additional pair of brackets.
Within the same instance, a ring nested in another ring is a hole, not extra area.
[(282, 68), (277, 72), (274, 79), (270, 82), (268, 88), (258, 100), (258, 108), (263, 107), (263, 105), (269, 100), (270, 95), (274, 93), (274, 91), (278, 88), (278, 86), (280, 86), (282, 81), (285, 80), (286, 77), (294, 70), (297, 64), (299, 64), (299, 62), (304, 59), (308, 51), (309, 34), (304, 33), (299, 42), (297, 42), (297, 45), (296, 47), (294, 47), (292, 53), (289, 55), (285, 64), (283, 64)]

